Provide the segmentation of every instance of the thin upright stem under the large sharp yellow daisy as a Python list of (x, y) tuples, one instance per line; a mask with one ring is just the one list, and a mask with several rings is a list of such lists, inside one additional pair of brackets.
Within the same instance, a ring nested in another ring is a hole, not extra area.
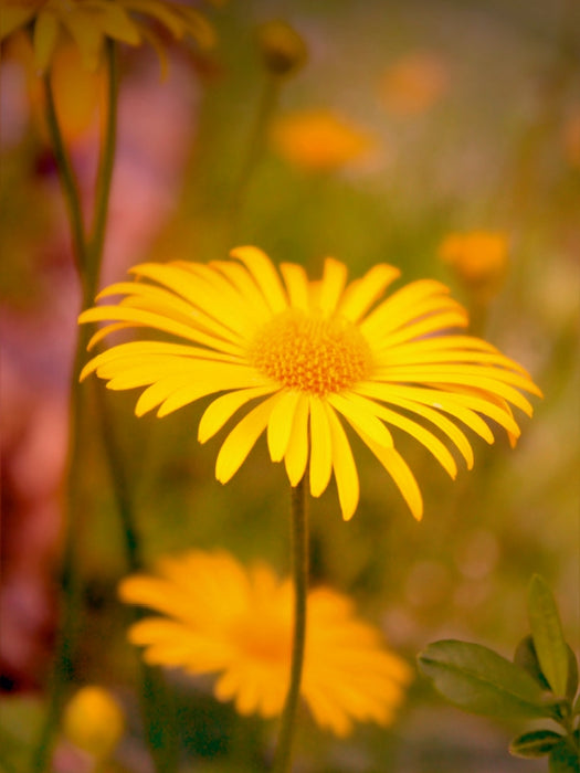
[(300, 682), (306, 642), (306, 600), (308, 593), (308, 515), (307, 476), (292, 489), (292, 578), (294, 584), (294, 631), (292, 666), (286, 702), (282, 712), (281, 729), (273, 773), (292, 770), (292, 744), (296, 729), (296, 714), (300, 697)]

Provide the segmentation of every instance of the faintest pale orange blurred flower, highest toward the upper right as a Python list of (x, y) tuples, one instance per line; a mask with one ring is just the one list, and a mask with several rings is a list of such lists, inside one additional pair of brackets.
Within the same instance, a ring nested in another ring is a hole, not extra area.
[(418, 51), (401, 56), (383, 74), (380, 97), (396, 115), (428, 110), (449, 86), (444, 60), (435, 53)]

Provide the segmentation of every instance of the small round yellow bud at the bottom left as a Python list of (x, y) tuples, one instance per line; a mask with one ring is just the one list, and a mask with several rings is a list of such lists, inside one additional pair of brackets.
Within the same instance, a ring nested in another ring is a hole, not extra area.
[(123, 737), (125, 717), (108, 690), (83, 687), (64, 709), (63, 731), (75, 746), (104, 760)]

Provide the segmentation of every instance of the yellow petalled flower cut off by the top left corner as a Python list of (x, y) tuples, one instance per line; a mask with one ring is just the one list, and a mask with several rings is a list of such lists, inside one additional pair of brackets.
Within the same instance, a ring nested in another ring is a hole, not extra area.
[(57, 47), (70, 40), (82, 52), (84, 66), (96, 70), (106, 38), (129, 45), (145, 40), (162, 56), (164, 44), (151, 21), (177, 40), (191, 35), (203, 47), (213, 43), (207, 19), (171, 0), (4, 0), (0, 41), (30, 25), (39, 71), (45, 71)]

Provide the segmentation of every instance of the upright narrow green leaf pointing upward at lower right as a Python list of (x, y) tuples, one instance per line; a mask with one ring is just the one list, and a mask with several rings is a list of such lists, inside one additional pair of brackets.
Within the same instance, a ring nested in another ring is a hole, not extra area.
[(528, 614), (541, 673), (552, 691), (563, 697), (568, 685), (568, 650), (556, 602), (539, 574), (529, 583)]

